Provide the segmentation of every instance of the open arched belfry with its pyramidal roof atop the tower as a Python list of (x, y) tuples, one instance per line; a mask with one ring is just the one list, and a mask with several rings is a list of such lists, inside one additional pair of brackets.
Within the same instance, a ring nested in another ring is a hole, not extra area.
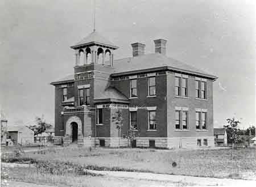
[(93, 31), (71, 48), (75, 49), (75, 66), (100, 64), (113, 67), (113, 54), (118, 46)]

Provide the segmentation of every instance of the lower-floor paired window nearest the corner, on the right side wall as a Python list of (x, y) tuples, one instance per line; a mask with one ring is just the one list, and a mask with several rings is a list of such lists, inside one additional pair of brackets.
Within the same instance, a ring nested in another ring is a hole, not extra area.
[(188, 111), (175, 111), (175, 129), (188, 130)]

